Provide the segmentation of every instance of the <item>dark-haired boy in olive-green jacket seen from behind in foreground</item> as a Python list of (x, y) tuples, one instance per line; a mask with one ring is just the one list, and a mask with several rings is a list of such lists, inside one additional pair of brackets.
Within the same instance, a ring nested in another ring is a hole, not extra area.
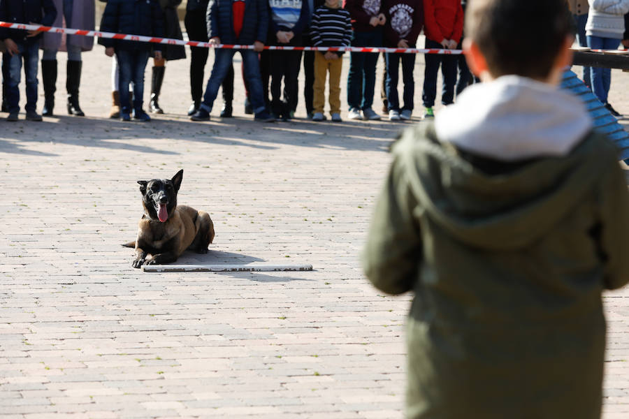
[(600, 417), (629, 196), (614, 145), (556, 88), (570, 31), (564, 0), (471, 2), (483, 83), (393, 147), (363, 265), (415, 294), (407, 418)]

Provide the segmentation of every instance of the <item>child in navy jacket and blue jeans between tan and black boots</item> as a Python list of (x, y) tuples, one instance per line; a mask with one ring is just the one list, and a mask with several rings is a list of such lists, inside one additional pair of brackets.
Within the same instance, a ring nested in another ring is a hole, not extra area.
[[(101, 31), (163, 38), (164, 17), (161, 13), (161, 6), (157, 0), (109, 0), (103, 12)], [(99, 44), (105, 47), (105, 54), (108, 57), (113, 57), (115, 54), (118, 62), (120, 119), (131, 121), (129, 83), (133, 82), (133, 119), (140, 122), (150, 122), (151, 118), (144, 112), (142, 106), (144, 71), (151, 50), (154, 51), (155, 59), (161, 60), (160, 45), (109, 38), (99, 38)]]

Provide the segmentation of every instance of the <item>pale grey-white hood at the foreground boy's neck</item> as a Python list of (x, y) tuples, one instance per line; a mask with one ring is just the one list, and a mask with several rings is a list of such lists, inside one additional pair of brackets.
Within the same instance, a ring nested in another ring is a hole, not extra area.
[(503, 161), (563, 156), (591, 126), (578, 98), (515, 75), (472, 84), (435, 117), (440, 141)]

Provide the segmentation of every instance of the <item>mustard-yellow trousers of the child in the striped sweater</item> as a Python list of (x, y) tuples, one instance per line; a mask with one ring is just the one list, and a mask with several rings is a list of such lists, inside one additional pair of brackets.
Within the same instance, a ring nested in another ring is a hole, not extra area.
[(326, 102), (326, 76), (330, 72), (330, 93), (328, 101), (330, 103), (330, 113), (340, 113), (340, 73), (343, 68), (343, 59), (325, 59), (324, 54), (315, 52), (315, 97), (312, 102), (315, 112), (324, 111)]

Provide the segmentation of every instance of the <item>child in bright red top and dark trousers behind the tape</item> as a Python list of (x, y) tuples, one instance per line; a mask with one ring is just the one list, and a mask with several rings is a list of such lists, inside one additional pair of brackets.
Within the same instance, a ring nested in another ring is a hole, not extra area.
[[(424, 0), (424, 34), (426, 48), (456, 49), (463, 36), (463, 8), (461, 0)], [(441, 103), (454, 102), (454, 84), (456, 84), (456, 56), (426, 54), (424, 72), (424, 117), (435, 116), (433, 106), (437, 96), (437, 73), (441, 66), (443, 87)]]

